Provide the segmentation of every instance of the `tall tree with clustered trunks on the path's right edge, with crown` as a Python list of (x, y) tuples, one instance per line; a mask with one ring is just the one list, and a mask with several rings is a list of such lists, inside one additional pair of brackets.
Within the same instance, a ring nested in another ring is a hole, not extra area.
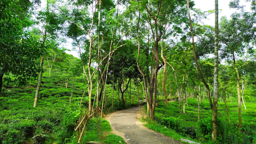
[[(159, 62), (159, 44), (163, 37), (167, 39), (173, 34), (172, 30), (174, 30), (174, 27), (179, 28), (179, 25), (185, 21), (185, 18), (183, 17), (184, 5), (184, 1), (179, 0), (149, 2), (132, 1), (129, 7), (131, 14), (136, 13), (137, 15), (139, 13), (138, 18), (136, 19), (136, 26), (134, 26), (137, 28), (137, 67), (144, 77), (145, 91), (147, 91), (147, 86), (149, 89), (149, 96), (146, 96), (146, 98), (149, 104), (150, 117), (152, 120), (154, 120), (157, 97), (158, 70), (163, 66)], [(175, 20), (177, 17), (179, 20)], [(148, 28), (145, 27), (145, 24), (148, 24)], [(165, 25), (167, 25), (166, 28)], [(145, 34), (146, 29), (148, 29), (147, 34)], [(165, 33), (167, 30), (168, 33)], [(146, 41), (148, 41), (147, 44), (145, 43)], [(144, 52), (141, 49), (143, 43), (145, 44), (145, 48), (143, 48), (145, 49), (145, 51), (143, 50)], [(145, 55), (143, 55), (143, 53)]]

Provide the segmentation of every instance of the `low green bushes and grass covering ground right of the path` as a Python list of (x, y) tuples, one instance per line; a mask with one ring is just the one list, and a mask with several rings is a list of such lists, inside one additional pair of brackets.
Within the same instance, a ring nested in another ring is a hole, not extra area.
[[(242, 110), (243, 126), (241, 129), (238, 128), (237, 102), (227, 103), (227, 107), (231, 122), (228, 121), (225, 104), (223, 102), (218, 104), (217, 143), (223, 143), (224, 139), (226, 143), (235, 143), (231, 140), (231, 135), (236, 136), (237, 143), (244, 143), (247, 138), (252, 143), (256, 139), (254, 103), (247, 103), (247, 109)], [(169, 106), (159, 102), (156, 107), (155, 121), (148, 121), (145, 126), (176, 140), (186, 138), (200, 143), (212, 143), (212, 115), (209, 102), (203, 101), (200, 105), (199, 122), (195, 98), (188, 99), (188, 107), (186, 106), (185, 109), (185, 113), (179, 114), (178, 102), (169, 103)], [(144, 120), (147, 121), (147, 118)], [(243, 137), (244, 134), (246, 138)]]

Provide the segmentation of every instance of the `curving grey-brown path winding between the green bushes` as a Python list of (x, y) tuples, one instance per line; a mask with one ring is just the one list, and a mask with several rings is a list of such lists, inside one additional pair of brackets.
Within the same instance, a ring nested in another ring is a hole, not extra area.
[(169, 144), (180, 143), (160, 133), (144, 127), (136, 113), (142, 107), (134, 107), (109, 114), (109, 121), (114, 134), (121, 136), (127, 144)]

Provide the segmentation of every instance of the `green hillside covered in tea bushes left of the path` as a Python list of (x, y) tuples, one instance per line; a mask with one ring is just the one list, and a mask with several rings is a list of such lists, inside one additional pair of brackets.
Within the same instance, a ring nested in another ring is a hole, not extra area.
[(56, 57), (49, 76), (45, 61), (36, 108), (33, 103), (37, 80), (29, 81), (24, 87), (4, 83), (0, 97), (1, 141), (10, 144), (76, 140), (72, 139), (74, 123), (87, 108), (86, 101), (79, 107), (86, 87), (81, 68), (78, 58), (65, 53)]

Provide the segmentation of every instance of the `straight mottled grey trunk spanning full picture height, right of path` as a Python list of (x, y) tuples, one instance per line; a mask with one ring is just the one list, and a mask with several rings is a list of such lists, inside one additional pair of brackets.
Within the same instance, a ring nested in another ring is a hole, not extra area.
[(214, 89), (212, 109), (211, 140), (217, 142), (217, 115), (218, 115), (218, 71), (219, 71), (219, 10), (218, 0), (215, 0), (215, 48), (214, 48)]

